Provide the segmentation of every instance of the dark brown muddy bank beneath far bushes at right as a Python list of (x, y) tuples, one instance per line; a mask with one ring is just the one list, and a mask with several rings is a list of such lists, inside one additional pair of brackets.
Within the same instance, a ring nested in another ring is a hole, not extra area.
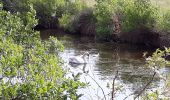
[(148, 30), (136, 30), (128, 33), (112, 34), (106, 41), (146, 46), (147, 48), (170, 47), (170, 36)]

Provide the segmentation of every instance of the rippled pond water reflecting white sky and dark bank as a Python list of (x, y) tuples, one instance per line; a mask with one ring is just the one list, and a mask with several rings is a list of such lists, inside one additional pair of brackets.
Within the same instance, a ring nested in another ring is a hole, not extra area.
[[(47, 39), (49, 36), (56, 36), (65, 46), (64, 52), (60, 54), (65, 62), (63, 67), (74, 74), (82, 73), (81, 81), (89, 83), (89, 87), (79, 90), (79, 93), (84, 94), (81, 100), (105, 100), (104, 95), (107, 100), (110, 100), (115, 76), (117, 76), (115, 88), (121, 90), (117, 90), (115, 100), (123, 100), (126, 97), (126, 100), (133, 100), (135, 95), (130, 94), (141, 90), (153, 76), (153, 71), (145, 67), (143, 53), (149, 51), (145, 47), (96, 42), (90, 37), (65, 34), (59, 30), (41, 31), (42, 39)], [(68, 63), (70, 57), (84, 52), (90, 53), (87, 64)], [(118, 75), (116, 75), (117, 71)], [(170, 69), (161, 69), (161, 72), (166, 75)], [(147, 90), (154, 90), (162, 85), (162, 80), (156, 76)]]

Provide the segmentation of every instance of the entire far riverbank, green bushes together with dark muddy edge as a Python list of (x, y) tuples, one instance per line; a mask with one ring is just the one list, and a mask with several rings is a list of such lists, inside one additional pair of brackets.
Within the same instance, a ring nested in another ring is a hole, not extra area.
[(3, 0), (5, 10), (21, 13), (27, 11), (28, 2), (37, 12), (37, 28), (62, 28), (100, 40), (149, 47), (170, 46), (169, 8), (160, 1)]

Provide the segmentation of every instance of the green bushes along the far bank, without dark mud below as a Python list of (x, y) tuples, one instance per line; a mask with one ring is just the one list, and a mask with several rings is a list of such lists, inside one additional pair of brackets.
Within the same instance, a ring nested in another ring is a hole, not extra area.
[[(89, 25), (85, 27), (86, 30), (95, 26), (99, 38), (135, 30), (159, 33), (170, 31), (169, 11), (152, 4), (151, 0), (95, 0), (91, 1), (92, 6), (84, 0), (3, 1), (5, 10), (21, 13), (28, 10), (28, 3), (32, 3), (39, 25), (45, 28), (62, 27), (76, 33), (81, 31), (79, 28), (82, 24), (86, 24)], [(90, 33), (90, 30), (87, 32)]]

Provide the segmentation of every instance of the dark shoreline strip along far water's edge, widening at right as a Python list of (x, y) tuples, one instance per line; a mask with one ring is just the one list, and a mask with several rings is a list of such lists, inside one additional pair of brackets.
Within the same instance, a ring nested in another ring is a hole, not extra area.
[[(94, 38), (94, 40), (98, 42), (115, 42), (120, 44), (125, 43), (125, 44), (144, 46), (150, 49), (157, 49), (157, 48), (164, 49), (164, 47), (170, 47), (170, 36), (160, 35), (160, 33), (156, 33), (156, 32), (134, 31), (131, 33), (112, 34), (111, 36), (108, 36), (109, 38), (107, 39), (97, 39), (95, 35), (81, 34), (78, 32), (72, 33), (64, 30), (63, 28), (38, 28), (35, 30), (38, 31), (55, 30), (65, 34)], [(53, 32), (49, 34), (55, 35), (55, 33)]]

